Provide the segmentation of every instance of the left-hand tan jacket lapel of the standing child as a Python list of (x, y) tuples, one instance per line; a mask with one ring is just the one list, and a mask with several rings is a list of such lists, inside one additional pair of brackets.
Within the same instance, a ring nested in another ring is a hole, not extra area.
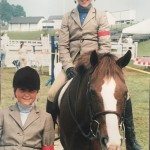
[(17, 104), (10, 106), (9, 109), (10, 109), (10, 113), (9, 113), (10, 116), (15, 120), (15, 122), (22, 129), (22, 122), (21, 122), (20, 112), (19, 112)]

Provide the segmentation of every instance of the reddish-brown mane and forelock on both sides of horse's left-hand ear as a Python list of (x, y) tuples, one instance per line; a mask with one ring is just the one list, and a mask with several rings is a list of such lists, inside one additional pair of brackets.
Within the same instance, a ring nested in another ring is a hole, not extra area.
[[(80, 75), (92, 68), (90, 64), (91, 52), (85, 53), (78, 58), (76, 69)], [(123, 79), (121, 68), (116, 64), (118, 58), (111, 53), (99, 53), (98, 64), (95, 66), (97, 74), (101, 74), (105, 78), (119, 76)]]

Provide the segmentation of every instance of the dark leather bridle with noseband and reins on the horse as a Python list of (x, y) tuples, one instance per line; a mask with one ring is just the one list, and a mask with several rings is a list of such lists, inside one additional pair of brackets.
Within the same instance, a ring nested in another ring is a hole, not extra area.
[[(92, 90), (91, 90), (91, 75), (92, 75), (92, 73), (90, 73), (90, 75), (89, 75), (89, 79), (88, 79), (88, 83), (87, 83), (87, 91), (86, 91), (86, 99), (87, 99), (87, 103), (88, 103), (87, 104), (88, 105), (88, 113), (89, 113), (89, 118), (90, 118), (88, 133), (85, 133), (85, 131), (83, 130), (81, 124), (77, 121), (77, 118), (76, 118), (75, 114), (73, 114), (73, 112), (72, 112), (70, 92), (68, 92), (69, 93), (69, 98), (68, 98), (69, 110), (70, 110), (71, 116), (72, 116), (73, 120), (75, 121), (78, 129), (80, 130), (81, 134), (86, 139), (88, 139), (90, 141), (94, 141), (94, 140), (97, 139), (97, 140), (100, 141), (100, 139), (101, 139), (100, 131), (99, 131), (100, 121), (98, 119), (100, 118), (100, 116), (104, 116), (104, 115), (107, 115), (107, 114), (115, 114), (120, 119), (121, 123), (120, 123), (119, 126), (121, 126), (122, 131), (124, 133), (124, 123), (123, 123), (124, 122), (124, 119), (123, 119), (124, 118), (124, 113), (122, 115), (120, 115), (118, 112), (111, 111), (111, 110), (110, 111), (108, 111), (108, 110), (107, 111), (102, 111), (102, 112), (94, 112), (94, 108), (92, 107), (93, 97), (92, 97)], [(79, 86), (80, 86), (80, 84), (78, 85), (77, 89), (79, 89)], [(125, 104), (124, 104), (124, 108), (125, 108)]]

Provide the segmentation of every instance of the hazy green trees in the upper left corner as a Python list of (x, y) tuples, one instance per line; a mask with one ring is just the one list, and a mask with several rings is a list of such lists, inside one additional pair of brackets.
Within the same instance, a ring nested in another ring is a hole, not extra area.
[(9, 4), (7, 0), (0, 1), (0, 20), (9, 22), (13, 17), (26, 16), (24, 8), (20, 5)]

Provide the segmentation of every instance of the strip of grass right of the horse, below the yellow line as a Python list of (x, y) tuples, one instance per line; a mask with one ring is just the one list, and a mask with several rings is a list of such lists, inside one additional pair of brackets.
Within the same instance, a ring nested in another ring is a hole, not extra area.
[(132, 98), (138, 141), (143, 150), (148, 150), (150, 75), (128, 70), (126, 81)]

